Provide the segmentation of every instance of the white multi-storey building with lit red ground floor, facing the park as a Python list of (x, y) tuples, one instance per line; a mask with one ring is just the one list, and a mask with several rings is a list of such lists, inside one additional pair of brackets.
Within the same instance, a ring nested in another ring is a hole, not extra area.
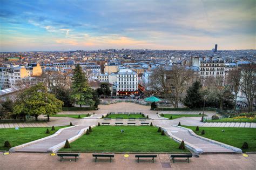
[(130, 69), (117, 73), (117, 96), (138, 94), (138, 74)]

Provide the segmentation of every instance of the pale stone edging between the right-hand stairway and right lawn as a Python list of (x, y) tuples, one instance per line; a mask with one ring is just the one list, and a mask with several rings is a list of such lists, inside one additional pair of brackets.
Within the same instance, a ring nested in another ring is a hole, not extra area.
[(193, 137), (205, 140), (207, 142), (211, 142), (212, 144), (219, 145), (219, 146), (225, 147), (227, 149), (231, 149), (235, 153), (242, 153), (242, 150), (240, 148), (237, 148), (237, 147), (234, 147), (234, 146), (231, 146), (231, 145), (227, 145), (227, 144), (224, 144), (222, 142), (215, 141), (215, 140), (212, 140), (212, 139), (208, 139), (208, 138), (205, 138), (205, 137), (201, 137), (200, 135), (197, 135), (196, 133), (194, 133), (193, 130), (191, 130), (190, 128), (186, 128), (186, 127), (182, 127), (182, 126), (177, 126), (177, 125), (172, 125), (172, 126), (178, 127), (178, 128), (183, 128), (184, 130), (187, 130), (188, 133), (190, 133)]

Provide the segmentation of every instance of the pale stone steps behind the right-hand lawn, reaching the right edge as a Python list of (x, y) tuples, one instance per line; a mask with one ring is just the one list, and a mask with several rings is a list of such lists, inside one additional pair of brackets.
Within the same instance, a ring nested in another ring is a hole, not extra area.
[(247, 128), (256, 128), (256, 123), (205, 123), (201, 125), (202, 127), (247, 127)]

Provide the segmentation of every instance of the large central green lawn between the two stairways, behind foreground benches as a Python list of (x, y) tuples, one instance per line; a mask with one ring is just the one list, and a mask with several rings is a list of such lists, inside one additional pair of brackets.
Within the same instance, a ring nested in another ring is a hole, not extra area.
[[(122, 134), (120, 130), (124, 130)], [(179, 144), (157, 132), (153, 126), (97, 126), (89, 135), (60, 151), (72, 152), (189, 152)]]

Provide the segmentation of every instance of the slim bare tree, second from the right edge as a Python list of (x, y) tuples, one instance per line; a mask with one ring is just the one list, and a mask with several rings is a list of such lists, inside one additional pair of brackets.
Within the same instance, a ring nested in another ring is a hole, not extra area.
[(227, 84), (231, 86), (233, 92), (235, 93), (234, 109), (237, 105), (237, 94), (240, 90), (240, 79), (241, 69), (233, 69), (228, 72)]

